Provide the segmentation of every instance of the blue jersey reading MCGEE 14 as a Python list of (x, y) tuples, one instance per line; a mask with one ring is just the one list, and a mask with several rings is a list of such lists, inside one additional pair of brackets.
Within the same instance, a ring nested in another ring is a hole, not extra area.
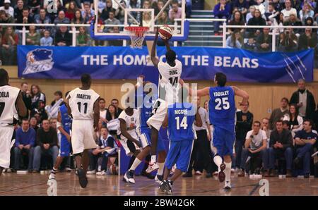
[(193, 123), (195, 115), (192, 104), (175, 103), (168, 107), (168, 128), (171, 141), (194, 140)]

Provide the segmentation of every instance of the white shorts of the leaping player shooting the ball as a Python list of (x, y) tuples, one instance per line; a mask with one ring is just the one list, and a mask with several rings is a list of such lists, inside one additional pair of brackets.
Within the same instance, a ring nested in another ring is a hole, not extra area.
[(153, 126), (156, 130), (160, 130), (163, 120), (167, 114), (167, 102), (163, 99), (157, 99), (153, 105), (153, 116), (151, 116), (147, 124)]

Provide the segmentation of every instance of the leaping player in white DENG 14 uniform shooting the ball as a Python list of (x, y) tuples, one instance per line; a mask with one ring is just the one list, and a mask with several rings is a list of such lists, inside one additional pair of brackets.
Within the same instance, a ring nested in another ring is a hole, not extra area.
[(165, 58), (167, 62), (159, 61), (155, 57), (155, 46), (158, 41), (158, 30), (151, 49), (151, 61), (159, 71), (158, 100), (153, 105), (153, 116), (148, 119), (147, 124), (151, 126), (151, 163), (146, 172), (151, 173), (159, 168), (156, 163), (156, 151), (158, 144), (158, 132), (161, 128), (167, 106), (178, 101), (179, 80), (182, 73), (182, 63), (177, 60), (175, 51), (170, 49), (168, 40), (163, 40), (167, 49)]

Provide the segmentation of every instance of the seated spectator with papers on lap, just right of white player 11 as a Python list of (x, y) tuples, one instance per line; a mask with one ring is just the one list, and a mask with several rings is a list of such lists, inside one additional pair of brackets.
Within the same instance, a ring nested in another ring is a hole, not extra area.
[[(117, 156), (117, 144), (114, 137), (108, 133), (107, 128), (101, 128), (100, 139), (98, 140), (98, 148), (90, 151), (90, 174), (98, 171), (96, 175), (105, 175), (108, 168), (108, 159), (110, 157), (116, 158)], [(102, 158), (100, 171), (98, 170), (97, 162), (99, 158)], [(114, 161), (113, 161), (114, 162)]]

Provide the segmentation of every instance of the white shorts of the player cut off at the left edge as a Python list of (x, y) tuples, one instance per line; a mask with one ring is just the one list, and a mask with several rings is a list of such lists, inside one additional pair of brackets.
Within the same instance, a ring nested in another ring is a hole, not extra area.
[(12, 140), (14, 127), (12, 125), (0, 125), (0, 166), (10, 167), (10, 150), (15, 140)]

